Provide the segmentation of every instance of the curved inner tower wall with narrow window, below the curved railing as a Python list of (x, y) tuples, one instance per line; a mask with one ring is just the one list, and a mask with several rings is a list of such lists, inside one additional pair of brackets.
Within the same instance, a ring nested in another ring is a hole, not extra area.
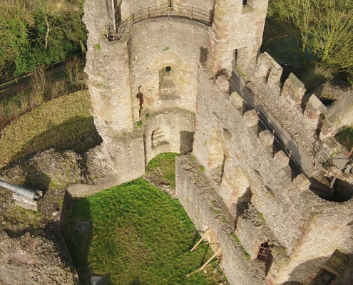
[[(188, 41), (185, 41), (188, 38)], [(195, 112), (200, 53), (207, 46), (208, 27), (180, 19), (153, 19), (135, 24), (129, 40), (134, 120), (139, 120), (139, 90), (144, 109), (179, 107)], [(160, 71), (170, 66), (179, 98), (160, 98)]]

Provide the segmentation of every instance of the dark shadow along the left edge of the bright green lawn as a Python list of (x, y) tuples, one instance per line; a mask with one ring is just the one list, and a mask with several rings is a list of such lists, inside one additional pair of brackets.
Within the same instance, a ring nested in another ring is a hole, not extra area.
[[(88, 232), (81, 232), (76, 229), (77, 221), (90, 222)], [(93, 237), (93, 224), (91, 209), (88, 199), (77, 199), (68, 209), (66, 227), (63, 230), (68, 251), (73, 259), (81, 285), (91, 284), (91, 271), (88, 266), (88, 253)], [(94, 274), (94, 272), (93, 272)], [(106, 278), (110, 279), (109, 276)], [(109, 284), (109, 283), (107, 283)]]

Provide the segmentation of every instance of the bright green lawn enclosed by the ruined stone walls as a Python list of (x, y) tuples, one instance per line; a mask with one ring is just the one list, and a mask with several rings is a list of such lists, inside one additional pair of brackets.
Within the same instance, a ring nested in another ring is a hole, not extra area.
[[(78, 232), (76, 221), (91, 222)], [(213, 252), (177, 199), (143, 179), (113, 187), (73, 202), (68, 210), (66, 242), (82, 284), (91, 274), (107, 276), (111, 284), (219, 284), (222, 278), (208, 267), (192, 274)]]

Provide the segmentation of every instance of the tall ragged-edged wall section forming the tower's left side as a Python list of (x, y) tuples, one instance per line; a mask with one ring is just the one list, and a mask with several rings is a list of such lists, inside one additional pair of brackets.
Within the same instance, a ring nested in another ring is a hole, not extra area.
[(106, 1), (87, 1), (85, 22), (88, 51), (85, 71), (91, 94), (91, 114), (103, 140), (112, 133), (133, 128), (128, 46), (126, 41), (109, 42)]

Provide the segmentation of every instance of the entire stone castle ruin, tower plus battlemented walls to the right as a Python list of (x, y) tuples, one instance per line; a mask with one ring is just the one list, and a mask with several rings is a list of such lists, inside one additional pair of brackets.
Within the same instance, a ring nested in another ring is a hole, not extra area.
[(230, 284), (352, 284), (351, 153), (340, 118), (260, 54), (267, 4), (86, 0), (95, 159), (111, 180), (72, 191), (179, 152), (176, 195)]

